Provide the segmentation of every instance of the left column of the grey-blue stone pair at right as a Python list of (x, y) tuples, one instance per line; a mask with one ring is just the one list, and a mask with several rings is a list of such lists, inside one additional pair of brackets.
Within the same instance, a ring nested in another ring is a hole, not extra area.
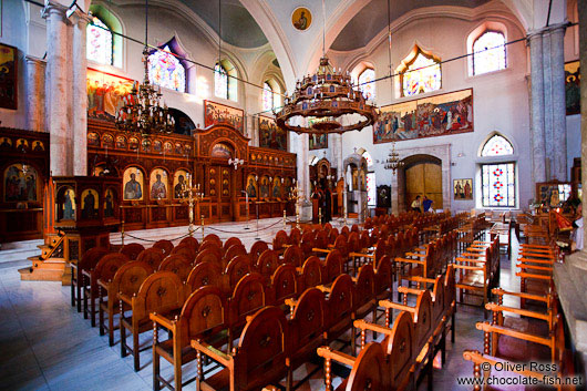
[(532, 80), (532, 169), (534, 182), (546, 182), (545, 135), (544, 135), (544, 80), (542, 33), (529, 35), (531, 80)]

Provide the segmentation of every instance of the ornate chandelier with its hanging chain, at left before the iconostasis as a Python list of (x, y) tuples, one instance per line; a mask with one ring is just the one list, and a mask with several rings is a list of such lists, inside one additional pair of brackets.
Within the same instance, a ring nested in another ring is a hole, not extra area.
[(145, 1), (145, 76), (142, 84), (133, 84), (126, 104), (116, 113), (115, 124), (120, 131), (148, 136), (155, 133), (172, 133), (175, 120), (165, 103), (161, 106), (161, 86), (156, 89), (148, 80), (148, 0)]

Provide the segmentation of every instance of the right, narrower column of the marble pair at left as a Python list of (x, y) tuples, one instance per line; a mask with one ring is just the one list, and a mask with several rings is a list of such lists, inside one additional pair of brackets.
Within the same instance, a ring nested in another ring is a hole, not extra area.
[(73, 175), (85, 176), (87, 173), (87, 61), (85, 56), (85, 28), (90, 18), (76, 11), (73, 16)]

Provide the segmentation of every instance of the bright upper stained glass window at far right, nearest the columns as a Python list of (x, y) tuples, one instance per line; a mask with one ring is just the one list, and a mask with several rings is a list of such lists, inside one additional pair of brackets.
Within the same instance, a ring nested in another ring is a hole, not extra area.
[(505, 37), (486, 31), (473, 42), (473, 72), (482, 74), (505, 69)]

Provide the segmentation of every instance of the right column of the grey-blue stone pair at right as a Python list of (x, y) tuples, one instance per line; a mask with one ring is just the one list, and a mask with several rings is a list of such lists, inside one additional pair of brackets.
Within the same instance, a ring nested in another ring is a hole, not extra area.
[[(553, 112), (552, 177), (567, 181), (567, 115), (565, 94), (565, 25), (550, 31), (550, 93)], [(548, 105), (546, 106), (548, 109)]]

